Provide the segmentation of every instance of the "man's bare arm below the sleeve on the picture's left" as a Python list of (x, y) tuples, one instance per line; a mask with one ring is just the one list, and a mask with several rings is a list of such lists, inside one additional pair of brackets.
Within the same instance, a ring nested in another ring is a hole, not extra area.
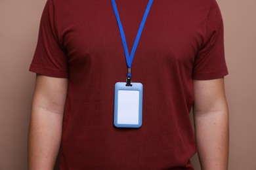
[(53, 169), (62, 134), (68, 80), (37, 75), (28, 139), (29, 169)]

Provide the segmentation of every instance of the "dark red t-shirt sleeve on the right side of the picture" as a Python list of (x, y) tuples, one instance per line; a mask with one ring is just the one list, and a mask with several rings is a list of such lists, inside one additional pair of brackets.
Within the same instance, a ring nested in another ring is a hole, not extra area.
[(228, 75), (224, 59), (223, 19), (217, 2), (213, 0), (205, 20), (205, 37), (196, 56), (192, 78), (210, 80)]

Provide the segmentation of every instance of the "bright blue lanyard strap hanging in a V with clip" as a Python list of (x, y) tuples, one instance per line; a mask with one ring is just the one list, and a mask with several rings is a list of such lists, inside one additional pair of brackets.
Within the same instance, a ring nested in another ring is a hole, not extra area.
[(123, 31), (123, 26), (121, 24), (119, 13), (118, 13), (118, 10), (117, 10), (117, 7), (116, 7), (116, 1), (111, 0), (111, 2), (112, 2), (112, 6), (113, 6), (113, 9), (114, 9), (115, 15), (116, 15), (116, 20), (117, 20), (117, 24), (118, 24), (120, 35), (121, 35), (121, 40), (122, 40), (122, 43), (123, 43), (123, 50), (125, 52), (126, 64), (127, 64), (127, 68), (128, 68), (127, 81), (129, 81), (129, 83), (127, 82), (127, 86), (131, 86), (131, 64), (133, 63), (133, 57), (135, 55), (135, 51), (136, 51), (137, 46), (139, 44), (140, 35), (141, 35), (143, 27), (145, 25), (146, 18), (148, 17), (148, 13), (150, 11), (150, 7), (153, 3), (153, 0), (148, 1), (148, 6), (146, 7), (146, 10), (144, 12), (144, 16), (143, 16), (142, 21), (140, 23), (139, 31), (138, 31), (137, 36), (135, 38), (135, 42), (133, 43), (133, 48), (131, 50), (131, 55), (129, 55), (127, 42), (126, 42), (126, 39), (125, 39), (125, 33)]

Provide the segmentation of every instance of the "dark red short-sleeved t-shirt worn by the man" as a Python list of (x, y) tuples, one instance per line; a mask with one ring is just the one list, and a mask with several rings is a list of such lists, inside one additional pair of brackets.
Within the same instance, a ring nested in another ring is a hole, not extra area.
[[(117, 0), (131, 51), (148, 0)], [(30, 71), (68, 78), (60, 169), (193, 169), (192, 80), (227, 75), (215, 0), (153, 2), (132, 65), (142, 127), (114, 127), (114, 84), (127, 66), (108, 0), (49, 0)]]

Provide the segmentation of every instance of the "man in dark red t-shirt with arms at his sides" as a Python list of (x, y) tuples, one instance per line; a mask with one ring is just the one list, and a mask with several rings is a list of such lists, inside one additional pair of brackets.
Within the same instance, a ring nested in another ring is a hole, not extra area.
[[(116, 2), (129, 52), (147, 5)], [(60, 169), (194, 169), (196, 146), (202, 169), (227, 169), (228, 72), (215, 0), (148, 9), (132, 67), (131, 84), (143, 85), (139, 128), (114, 126), (114, 85), (131, 75), (113, 9), (113, 1), (47, 1), (30, 66), (30, 169), (53, 169), (59, 147)]]

